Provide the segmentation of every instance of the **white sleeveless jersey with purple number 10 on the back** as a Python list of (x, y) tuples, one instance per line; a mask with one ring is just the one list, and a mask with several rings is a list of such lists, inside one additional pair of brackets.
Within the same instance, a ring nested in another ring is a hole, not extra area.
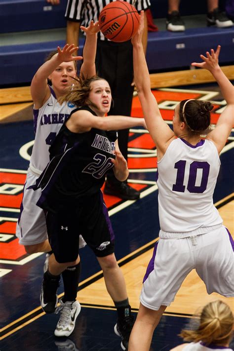
[(213, 205), (219, 169), (212, 141), (200, 140), (194, 146), (177, 138), (170, 143), (157, 164), (160, 237), (168, 232), (174, 237), (202, 234), (222, 223)]

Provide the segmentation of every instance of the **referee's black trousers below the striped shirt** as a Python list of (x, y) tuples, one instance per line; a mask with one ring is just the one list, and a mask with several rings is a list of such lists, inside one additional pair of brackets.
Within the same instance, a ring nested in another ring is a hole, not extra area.
[[(99, 77), (110, 84), (114, 106), (109, 115), (130, 116), (132, 107), (133, 54), (130, 41), (124, 43), (104, 42), (98, 40), (96, 68)], [(118, 131), (118, 145), (123, 157), (127, 160), (129, 130)], [(118, 183), (113, 170), (107, 174), (111, 183)]]

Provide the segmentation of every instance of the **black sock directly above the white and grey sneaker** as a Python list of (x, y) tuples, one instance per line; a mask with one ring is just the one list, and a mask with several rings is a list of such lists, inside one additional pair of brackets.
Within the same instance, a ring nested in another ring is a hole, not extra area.
[(79, 275), (80, 275), (81, 263), (67, 267), (62, 272), (63, 285), (64, 285), (64, 297), (63, 302), (75, 301), (77, 298)]

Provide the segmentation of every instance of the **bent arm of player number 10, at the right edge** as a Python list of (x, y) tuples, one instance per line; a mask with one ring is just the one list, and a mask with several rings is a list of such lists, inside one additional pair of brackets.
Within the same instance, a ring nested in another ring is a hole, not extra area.
[(221, 88), (221, 92), (228, 103), (227, 108), (221, 113), (216, 128), (207, 135), (208, 140), (212, 140), (221, 152), (232, 128), (234, 127), (234, 86), (221, 70), (218, 62), (221, 46), (218, 45), (216, 51), (211, 49), (211, 53), (206, 52), (206, 57), (200, 55), (203, 62), (193, 62), (192, 65), (207, 69), (216, 79)]

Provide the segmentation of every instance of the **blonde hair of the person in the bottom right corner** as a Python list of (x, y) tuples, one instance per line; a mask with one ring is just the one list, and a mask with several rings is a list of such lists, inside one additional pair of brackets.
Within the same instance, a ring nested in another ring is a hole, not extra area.
[(179, 336), (185, 341), (202, 341), (205, 345), (229, 344), (233, 333), (233, 313), (224, 302), (213, 301), (203, 307), (196, 330), (182, 330)]

